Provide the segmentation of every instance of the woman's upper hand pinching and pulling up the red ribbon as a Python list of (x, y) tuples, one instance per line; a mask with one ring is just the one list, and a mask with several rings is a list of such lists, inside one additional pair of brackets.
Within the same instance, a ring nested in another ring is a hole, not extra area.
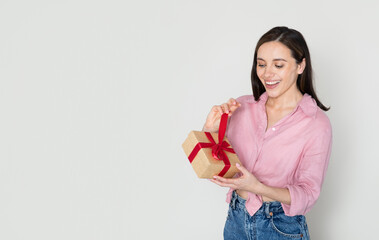
[(220, 125), (221, 115), (227, 113), (231, 116), (235, 110), (237, 110), (241, 104), (237, 102), (234, 98), (229, 99), (228, 102), (221, 105), (215, 105), (212, 107), (211, 111), (207, 116), (207, 120), (204, 124), (204, 132), (217, 132)]

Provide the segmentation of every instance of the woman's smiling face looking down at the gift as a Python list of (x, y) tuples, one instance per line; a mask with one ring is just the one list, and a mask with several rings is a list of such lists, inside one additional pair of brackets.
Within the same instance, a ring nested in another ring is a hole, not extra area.
[(291, 50), (280, 42), (267, 42), (258, 49), (257, 75), (270, 98), (299, 94), (296, 79), (304, 68), (305, 59), (297, 64)]

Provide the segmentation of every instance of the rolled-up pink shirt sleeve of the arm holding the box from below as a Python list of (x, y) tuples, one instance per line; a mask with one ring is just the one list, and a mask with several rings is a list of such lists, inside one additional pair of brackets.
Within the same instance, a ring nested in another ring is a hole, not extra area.
[(328, 167), (331, 146), (332, 130), (329, 125), (304, 147), (293, 184), (286, 186), (291, 196), (290, 205), (282, 203), (286, 215), (305, 215), (316, 203)]

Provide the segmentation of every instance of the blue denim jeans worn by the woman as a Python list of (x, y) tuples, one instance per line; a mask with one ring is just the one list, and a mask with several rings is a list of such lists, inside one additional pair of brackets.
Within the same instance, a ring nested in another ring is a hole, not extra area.
[(264, 202), (253, 215), (247, 212), (246, 200), (234, 191), (224, 228), (225, 240), (309, 240), (303, 215), (284, 215), (280, 202)]

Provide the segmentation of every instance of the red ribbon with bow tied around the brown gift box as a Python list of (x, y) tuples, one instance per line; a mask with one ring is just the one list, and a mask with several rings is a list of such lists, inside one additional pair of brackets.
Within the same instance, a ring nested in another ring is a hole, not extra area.
[(229, 148), (230, 144), (226, 141), (223, 141), (224, 136), (225, 136), (227, 122), (228, 122), (228, 114), (224, 113), (221, 115), (221, 121), (220, 121), (219, 130), (218, 130), (218, 143), (215, 142), (215, 140), (213, 139), (212, 135), (209, 132), (204, 132), (207, 138), (209, 139), (210, 143), (199, 142), (198, 144), (196, 144), (191, 154), (188, 156), (190, 163), (192, 163), (193, 159), (195, 159), (200, 149), (212, 148), (213, 158), (219, 161), (223, 161), (225, 164), (225, 167), (218, 174), (218, 176), (220, 177), (223, 177), (225, 173), (228, 172), (231, 166), (229, 158), (226, 155), (225, 151), (230, 152), (230, 153), (235, 153), (233, 148), (231, 147)]

